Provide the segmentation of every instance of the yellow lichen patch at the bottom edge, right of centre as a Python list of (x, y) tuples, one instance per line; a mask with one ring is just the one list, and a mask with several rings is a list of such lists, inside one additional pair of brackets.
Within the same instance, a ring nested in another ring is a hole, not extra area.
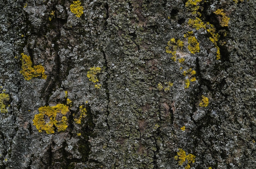
[(186, 155), (186, 152), (183, 149), (179, 149), (179, 151), (177, 152), (177, 156), (175, 156), (174, 159), (179, 160), (178, 165), (183, 165), (183, 163), (187, 160), (185, 169), (190, 169), (189, 164), (195, 162), (195, 156), (193, 154)]

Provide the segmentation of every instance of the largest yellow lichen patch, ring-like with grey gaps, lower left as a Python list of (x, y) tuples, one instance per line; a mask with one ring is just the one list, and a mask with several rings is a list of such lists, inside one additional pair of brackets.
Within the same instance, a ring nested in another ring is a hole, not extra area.
[(46, 131), (47, 134), (54, 133), (54, 129), (65, 131), (67, 128), (67, 117), (69, 112), (67, 105), (58, 104), (56, 106), (43, 106), (38, 108), (39, 114), (33, 119), (33, 125), (36, 126), (38, 132)]

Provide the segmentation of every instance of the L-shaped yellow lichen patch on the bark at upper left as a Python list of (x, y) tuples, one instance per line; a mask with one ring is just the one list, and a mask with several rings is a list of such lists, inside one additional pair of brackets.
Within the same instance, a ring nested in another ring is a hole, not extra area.
[(30, 59), (30, 56), (25, 55), (24, 53), (21, 53), (21, 61), (22, 61), (22, 66), (21, 66), (21, 71), (20, 73), (23, 75), (25, 80), (31, 80), (34, 77), (41, 76), (42, 79), (46, 79), (45, 75), (45, 69), (41, 65), (36, 65), (32, 67), (32, 61)]

